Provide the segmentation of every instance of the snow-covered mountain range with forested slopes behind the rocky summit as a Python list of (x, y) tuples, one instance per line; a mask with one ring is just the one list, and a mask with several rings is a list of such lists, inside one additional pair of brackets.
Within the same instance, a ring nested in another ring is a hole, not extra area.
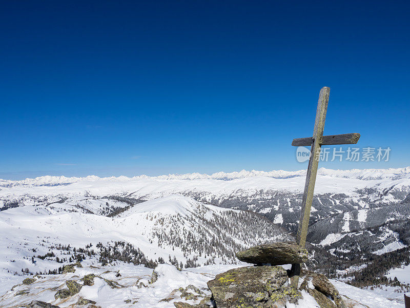
[[(22, 271), (57, 271), (78, 256), (150, 267), (240, 264), (238, 250), (293, 239), (305, 172), (0, 180), (2, 290)], [(410, 167), (319, 169), (311, 261), (363, 268), (408, 249), (408, 201)]]

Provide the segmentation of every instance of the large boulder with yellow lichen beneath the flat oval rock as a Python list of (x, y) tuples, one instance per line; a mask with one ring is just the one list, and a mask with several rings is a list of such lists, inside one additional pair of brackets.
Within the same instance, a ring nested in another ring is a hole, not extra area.
[(279, 266), (248, 266), (230, 269), (208, 281), (218, 308), (284, 307), (296, 303), (301, 293), (288, 283)]

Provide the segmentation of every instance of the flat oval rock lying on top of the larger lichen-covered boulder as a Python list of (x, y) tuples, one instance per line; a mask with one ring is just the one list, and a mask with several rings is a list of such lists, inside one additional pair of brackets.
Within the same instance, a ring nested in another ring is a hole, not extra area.
[(247, 263), (283, 265), (308, 261), (308, 251), (296, 242), (277, 242), (251, 247), (236, 257)]

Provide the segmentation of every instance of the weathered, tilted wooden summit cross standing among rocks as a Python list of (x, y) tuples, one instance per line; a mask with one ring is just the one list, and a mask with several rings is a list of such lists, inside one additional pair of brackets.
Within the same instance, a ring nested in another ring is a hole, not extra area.
[[(311, 214), (313, 191), (317, 167), (320, 158), (320, 147), (332, 144), (356, 144), (359, 141), (360, 133), (345, 133), (332, 136), (323, 136), (324, 121), (326, 119), (327, 103), (329, 103), (330, 88), (323, 87), (320, 90), (319, 101), (317, 103), (315, 127), (313, 136), (308, 138), (296, 138), (292, 141), (293, 146), (311, 146), (311, 156), (309, 159), (308, 172), (304, 185), (302, 208), (300, 211), (299, 227), (296, 234), (296, 241), (301, 247), (306, 244), (308, 235), (309, 217)], [(297, 287), (300, 275), (300, 264), (292, 264), (291, 269), (292, 285)]]

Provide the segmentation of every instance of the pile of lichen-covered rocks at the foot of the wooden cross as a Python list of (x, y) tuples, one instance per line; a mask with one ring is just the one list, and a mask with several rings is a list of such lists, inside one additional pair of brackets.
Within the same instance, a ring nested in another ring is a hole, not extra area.
[[(336, 287), (322, 274), (302, 271), (298, 288), (290, 283), (290, 271), (277, 265), (303, 263), (308, 251), (296, 242), (258, 245), (238, 252), (243, 262), (255, 264), (221, 273), (208, 282), (212, 305), (216, 308), (283, 308), (286, 302), (297, 304), (302, 291), (315, 298), (321, 308), (346, 308)], [(209, 308), (200, 303), (176, 303), (178, 308)]]

